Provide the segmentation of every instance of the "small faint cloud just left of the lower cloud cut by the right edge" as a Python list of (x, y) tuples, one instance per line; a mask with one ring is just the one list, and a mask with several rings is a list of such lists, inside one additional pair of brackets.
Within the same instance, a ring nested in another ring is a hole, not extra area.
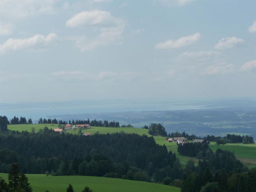
[(215, 64), (211, 65), (206, 68), (206, 70), (203, 72), (203, 74), (223, 74), (223, 73), (230, 73), (233, 71), (233, 64)]

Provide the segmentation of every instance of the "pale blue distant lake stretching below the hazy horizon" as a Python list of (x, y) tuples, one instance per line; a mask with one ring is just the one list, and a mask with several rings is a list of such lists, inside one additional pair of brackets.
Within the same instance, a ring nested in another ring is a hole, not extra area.
[(142, 103), (142, 104), (106, 104), (106, 105), (82, 105), (82, 106), (64, 106), (55, 107), (54, 105), (45, 107), (1, 107), (0, 114), (6, 115), (8, 119), (14, 117), (32, 118), (38, 120), (40, 117), (47, 118), (54, 115), (65, 114), (92, 114), (106, 112), (124, 112), (124, 111), (152, 111), (152, 110), (186, 110), (186, 109), (205, 109), (204, 105), (187, 105), (184, 103)]

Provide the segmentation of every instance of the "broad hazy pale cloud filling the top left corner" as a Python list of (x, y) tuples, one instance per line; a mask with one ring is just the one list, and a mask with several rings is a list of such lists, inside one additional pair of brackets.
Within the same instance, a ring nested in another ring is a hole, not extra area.
[(53, 13), (57, 0), (1, 0), (1, 15), (4, 17), (28, 17), (42, 13)]

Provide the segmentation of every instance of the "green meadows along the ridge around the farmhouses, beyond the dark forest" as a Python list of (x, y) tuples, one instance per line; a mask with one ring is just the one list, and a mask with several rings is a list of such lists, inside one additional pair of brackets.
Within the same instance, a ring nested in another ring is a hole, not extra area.
[[(45, 126), (48, 128), (58, 128), (57, 124), (29, 124), (29, 125), (8, 125), (9, 130), (18, 130), (23, 131), (27, 130), (31, 132), (31, 128), (34, 127), (35, 131), (39, 129), (43, 129)], [(147, 129), (139, 129), (139, 128), (105, 128), (105, 127), (92, 127), (92, 129), (82, 129), (82, 133), (89, 132), (89, 133), (116, 133), (116, 132), (125, 132), (125, 133), (137, 133), (139, 135), (147, 135)], [(67, 133), (77, 134), (78, 130), (69, 130)], [(195, 165), (197, 165), (197, 158), (194, 157), (187, 157), (182, 156), (177, 151), (177, 144), (172, 142), (166, 142), (165, 137), (154, 136), (156, 143), (159, 145), (166, 145), (168, 150), (176, 153), (176, 156), (180, 159), (182, 164), (186, 164), (188, 160), (193, 160)], [(250, 168), (256, 166), (256, 144), (226, 144), (226, 145), (215, 145), (215, 142), (211, 142), (210, 148), (215, 152), (218, 148), (222, 150), (230, 150), (234, 151), (236, 157), (242, 161), (245, 165), (248, 165)]]

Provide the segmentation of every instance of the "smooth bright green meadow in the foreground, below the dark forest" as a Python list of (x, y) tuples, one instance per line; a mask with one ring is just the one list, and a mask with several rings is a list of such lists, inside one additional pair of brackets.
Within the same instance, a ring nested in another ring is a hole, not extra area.
[[(7, 181), (7, 174), (0, 173)], [(91, 176), (46, 176), (39, 174), (27, 174), (28, 182), (31, 183), (33, 192), (65, 192), (69, 184), (72, 184), (76, 192), (88, 185), (94, 192), (180, 192), (181, 189), (162, 184), (113, 179), (106, 177)]]

